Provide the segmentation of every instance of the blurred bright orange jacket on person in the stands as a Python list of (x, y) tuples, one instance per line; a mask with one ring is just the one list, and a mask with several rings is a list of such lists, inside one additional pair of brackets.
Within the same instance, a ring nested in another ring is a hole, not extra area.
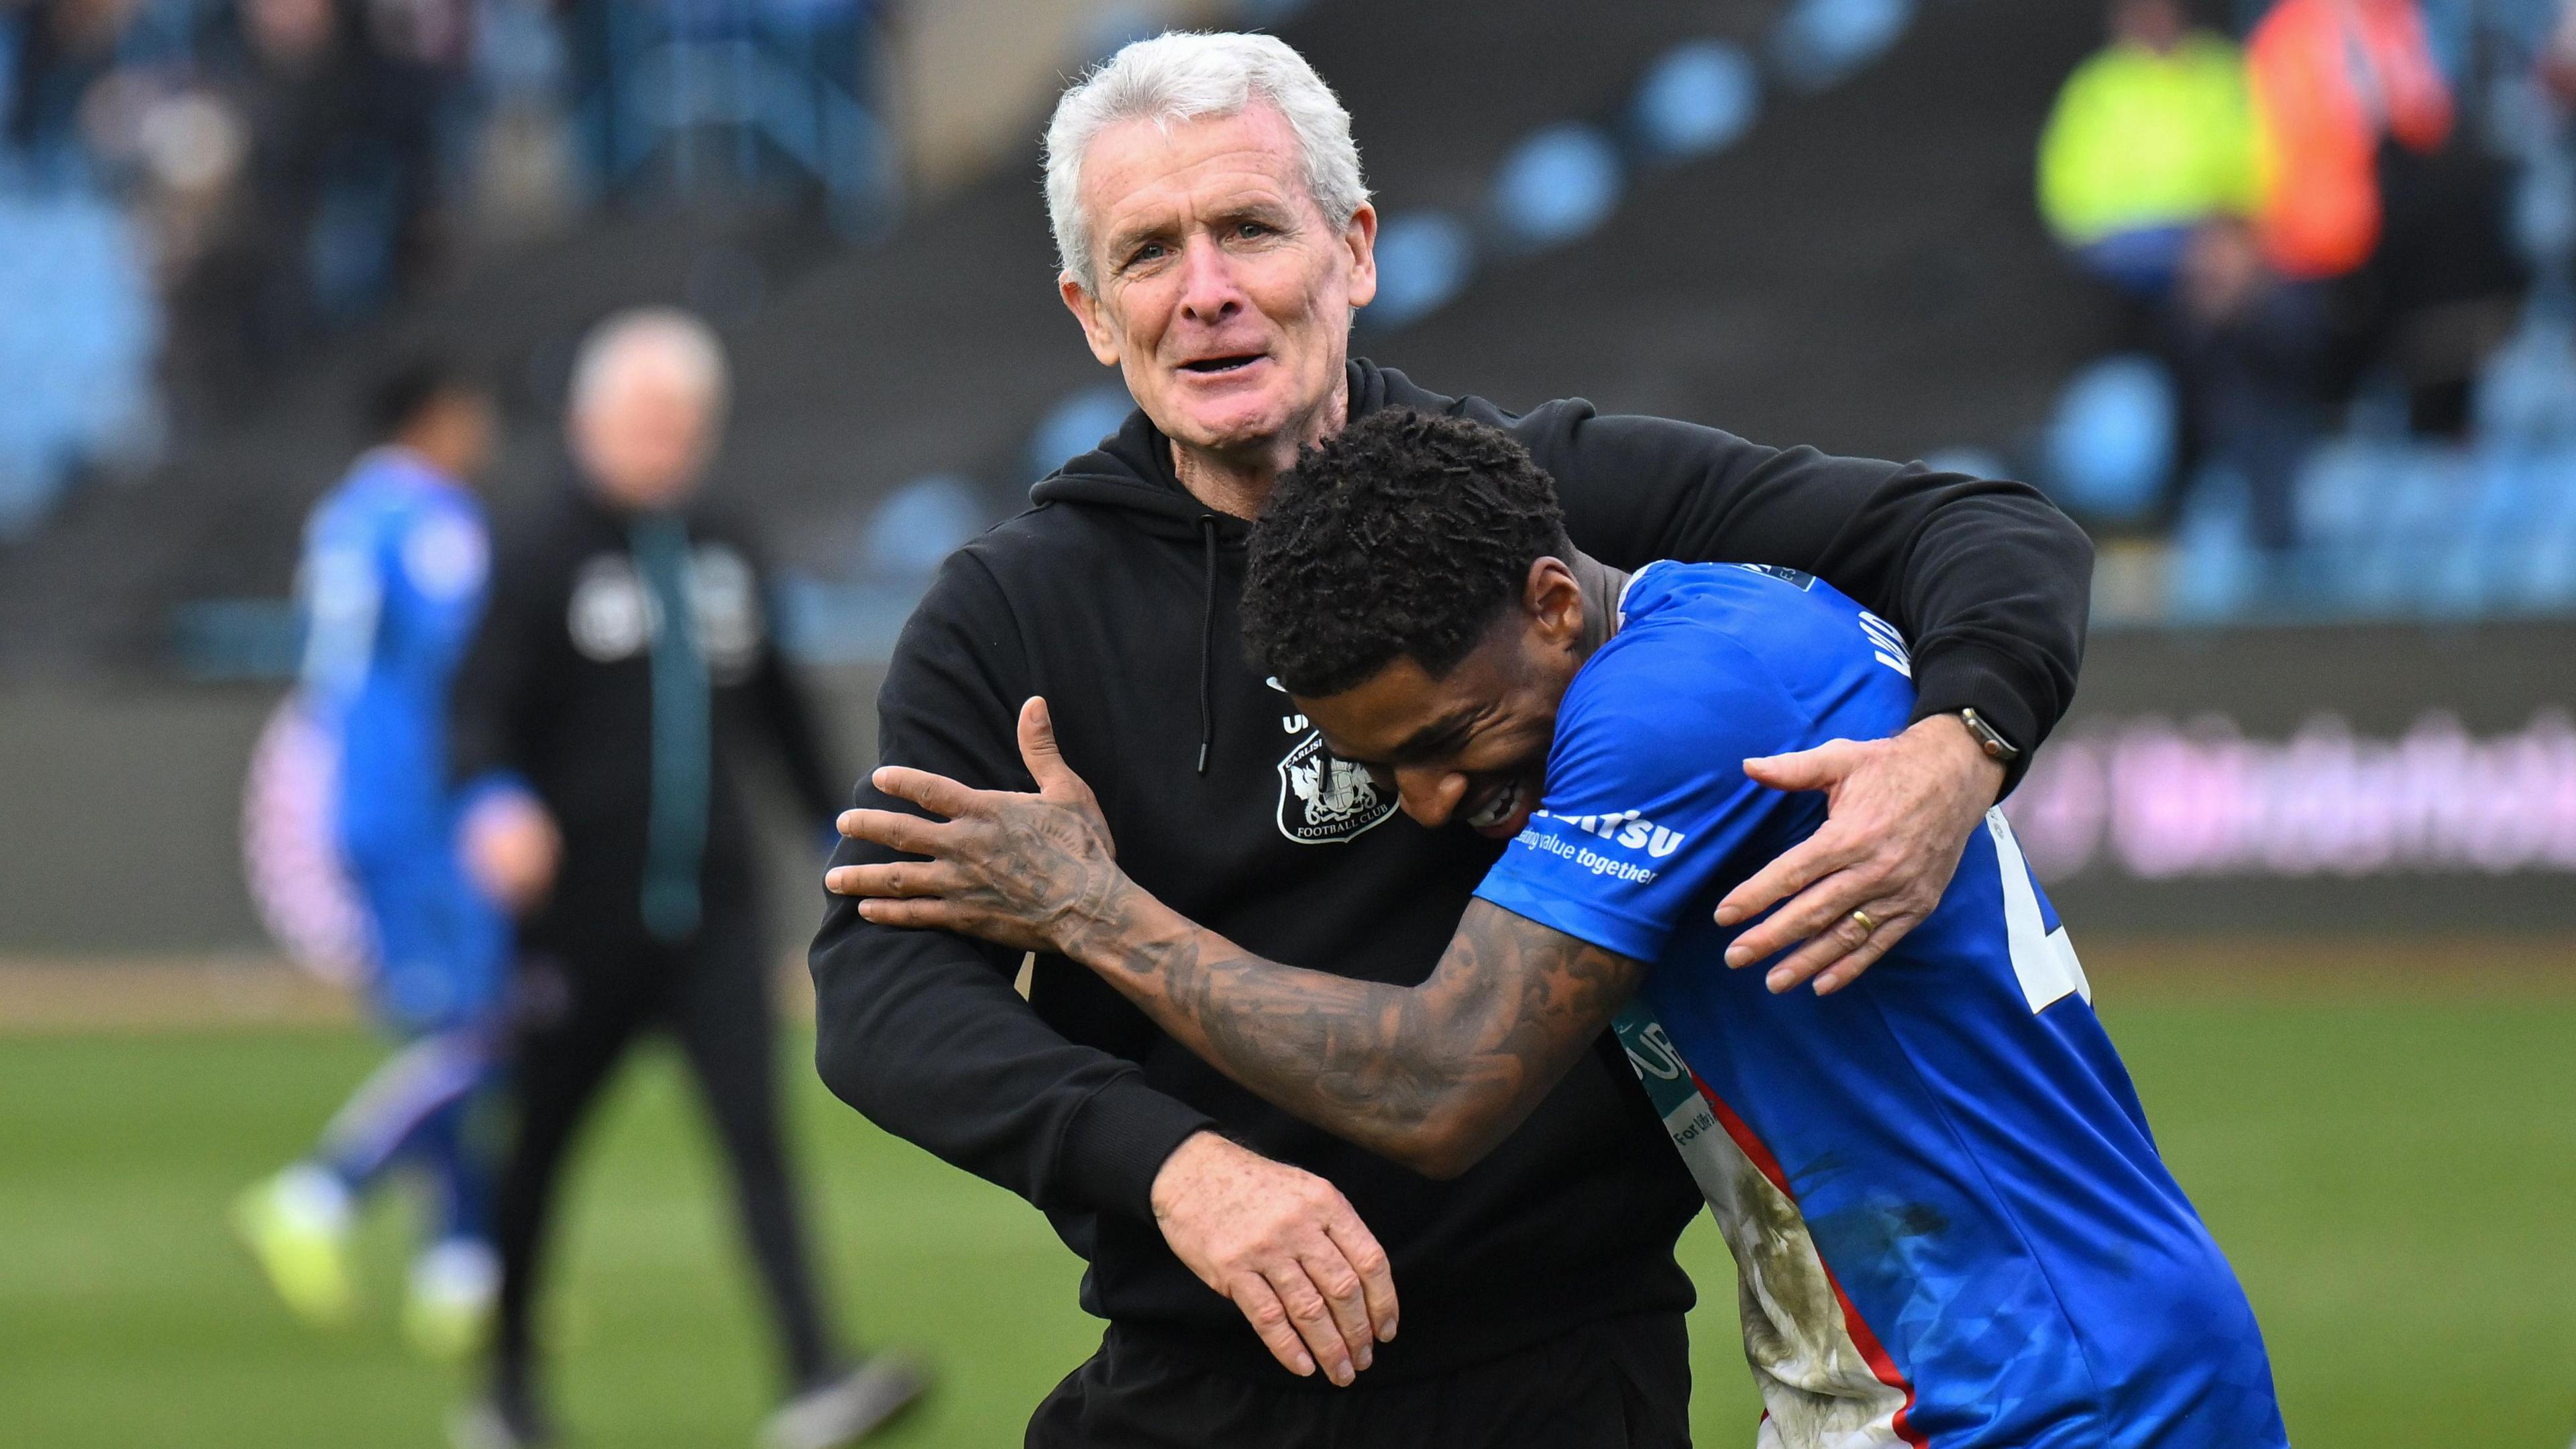
[(2450, 85), (2416, 0), (2280, 0), (2246, 46), (2262, 242), (2282, 276), (2349, 276), (2380, 245), (2380, 144), (2450, 139)]

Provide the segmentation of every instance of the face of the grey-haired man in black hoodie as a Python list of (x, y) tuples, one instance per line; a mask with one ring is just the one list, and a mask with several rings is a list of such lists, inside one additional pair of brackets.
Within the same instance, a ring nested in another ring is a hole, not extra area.
[(1110, 126), (1082, 160), (1082, 214), (1097, 294), (1066, 273), (1064, 304), (1164, 436), (1239, 454), (1340, 425), (1324, 413), (1350, 312), (1378, 291), (1378, 217), (1324, 222), (1273, 106)]

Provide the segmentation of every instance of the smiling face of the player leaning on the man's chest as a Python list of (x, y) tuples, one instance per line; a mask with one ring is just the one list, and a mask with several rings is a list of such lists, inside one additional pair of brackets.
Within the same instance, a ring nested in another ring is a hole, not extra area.
[(1342, 694), (1296, 704), (1334, 755), (1394, 784), (1422, 825), (1455, 820), (1510, 841), (1546, 792), (1556, 706), (1582, 668), (1582, 627), (1566, 565), (1538, 559), (1530, 593), (1445, 676), (1401, 655)]

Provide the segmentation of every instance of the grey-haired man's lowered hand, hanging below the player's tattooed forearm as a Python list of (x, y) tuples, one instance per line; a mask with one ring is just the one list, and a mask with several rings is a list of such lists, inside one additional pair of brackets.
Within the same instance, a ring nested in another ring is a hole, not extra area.
[(1154, 1176), (1154, 1222), (1198, 1281), (1234, 1299), (1291, 1374), (1334, 1385), (1396, 1336), (1386, 1248), (1324, 1178), (1216, 1132), (1182, 1142)]

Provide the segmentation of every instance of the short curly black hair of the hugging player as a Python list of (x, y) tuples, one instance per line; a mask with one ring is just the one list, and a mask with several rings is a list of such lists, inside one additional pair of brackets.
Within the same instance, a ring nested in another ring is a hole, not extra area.
[(1252, 526), (1244, 647), (1306, 699), (1404, 655), (1443, 676), (1564, 539), (1556, 482), (1517, 438), (1383, 407), (1280, 474)]

